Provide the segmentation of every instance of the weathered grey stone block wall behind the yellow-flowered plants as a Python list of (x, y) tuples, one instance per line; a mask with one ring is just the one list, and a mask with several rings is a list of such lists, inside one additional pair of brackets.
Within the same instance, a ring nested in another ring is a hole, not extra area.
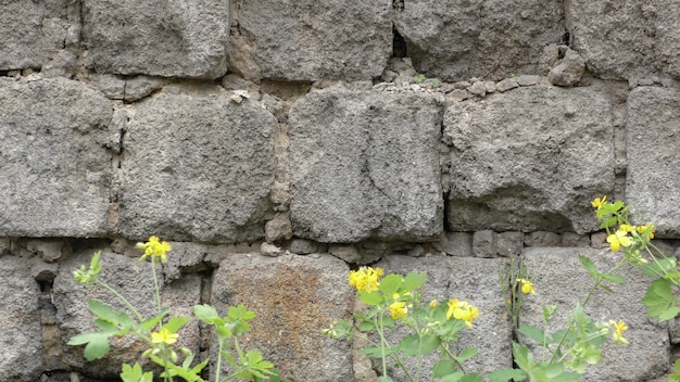
[[(0, 35), (3, 381), (137, 359), (65, 344), (92, 328), (86, 297), (114, 303), (72, 275), (101, 250), (152, 311), (150, 234), (175, 249), (164, 304), (247, 304), (249, 343), (294, 381), (375, 379), (320, 335), (354, 308), (356, 265), (426, 270), (432, 296), (479, 306), (465, 341), (490, 371), (512, 367), (505, 257), (537, 275), (527, 321), (585, 293), (577, 254), (614, 260), (592, 199), (632, 202), (679, 254), (677, 1), (9, 0)], [(667, 371), (680, 339), (645, 317), (646, 282), (595, 297), (630, 345), (584, 380)], [(182, 339), (211, 353), (196, 321)]]

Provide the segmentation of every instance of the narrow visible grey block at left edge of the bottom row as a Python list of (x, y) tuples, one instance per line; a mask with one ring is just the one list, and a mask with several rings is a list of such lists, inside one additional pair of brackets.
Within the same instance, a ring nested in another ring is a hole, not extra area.
[(0, 256), (0, 370), (5, 381), (34, 381), (42, 367), (38, 283), (29, 265), (16, 256)]

